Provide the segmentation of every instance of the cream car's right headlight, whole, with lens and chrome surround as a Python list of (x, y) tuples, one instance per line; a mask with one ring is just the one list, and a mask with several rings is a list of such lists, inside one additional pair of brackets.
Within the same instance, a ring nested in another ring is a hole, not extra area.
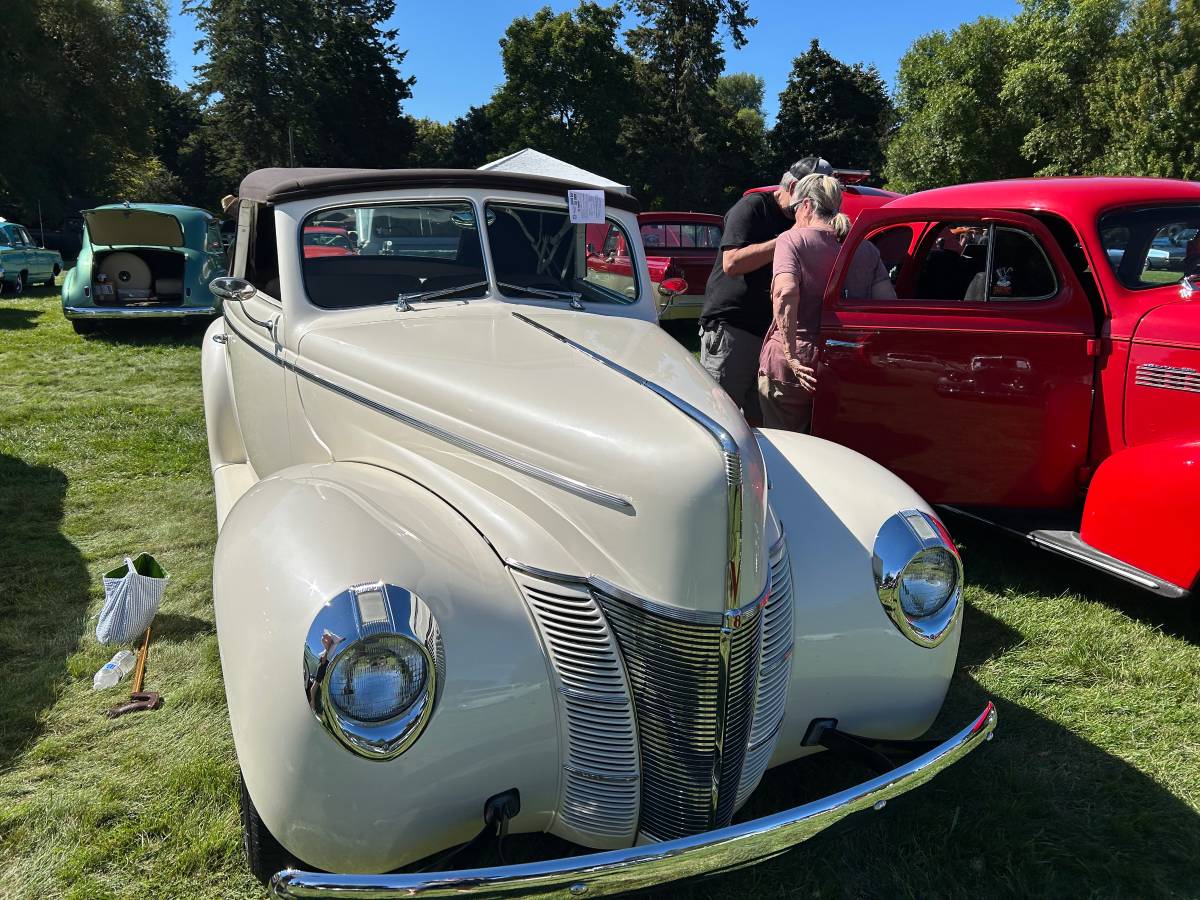
[(932, 516), (905, 510), (888, 518), (872, 556), (880, 602), (900, 632), (937, 647), (962, 611), (962, 560)]

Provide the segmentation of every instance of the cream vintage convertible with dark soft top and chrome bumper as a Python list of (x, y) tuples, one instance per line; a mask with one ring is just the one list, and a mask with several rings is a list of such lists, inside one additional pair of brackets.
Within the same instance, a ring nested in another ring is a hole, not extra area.
[[(751, 431), (656, 326), (626, 194), (600, 215), (629, 283), (595, 282), (578, 187), (241, 185), (203, 350), (214, 596), (246, 851), (278, 896), (602, 896), (722, 871), (995, 727), (989, 704), (857, 787), (736, 818), (772, 766), (878, 763), (930, 726), (961, 565), (902, 482)], [(305, 256), (314, 227), (354, 252)], [(595, 852), (461, 868), (529, 832)]]

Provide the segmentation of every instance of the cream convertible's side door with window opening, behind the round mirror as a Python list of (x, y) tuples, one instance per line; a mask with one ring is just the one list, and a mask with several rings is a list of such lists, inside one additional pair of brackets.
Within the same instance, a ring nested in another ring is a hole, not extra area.
[(250, 281), (256, 293), (244, 302), (222, 304), (226, 347), (246, 455), (259, 478), (265, 478), (292, 458), (274, 210), (242, 202), (234, 246), (232, 274)]

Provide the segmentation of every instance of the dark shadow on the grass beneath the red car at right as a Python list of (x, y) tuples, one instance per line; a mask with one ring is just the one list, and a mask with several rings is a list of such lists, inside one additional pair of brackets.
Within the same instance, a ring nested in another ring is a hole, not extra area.
[(1200, 596), (1168, 600), (1080, 563), (1073, 563), (1000, 528), (948, 515), (950, 533), (962, 545), (968, 581), (1004, 595), (1070, 592), (1105, 604), (1160, 629), (1171, 637), (1200, 644)]

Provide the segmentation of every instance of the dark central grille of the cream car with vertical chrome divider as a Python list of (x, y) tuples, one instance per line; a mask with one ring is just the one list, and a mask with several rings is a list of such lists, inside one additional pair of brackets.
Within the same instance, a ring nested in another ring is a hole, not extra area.
[(686, 620), (686, 611), (674, 616), (595, 588), (593, 594), (632, 689), (642, 761), (638, 830), (671, 840), (727, 824), (750, 730), (761, 607), (736, 620), (731, 614), (731, 628), (721, 628)]

